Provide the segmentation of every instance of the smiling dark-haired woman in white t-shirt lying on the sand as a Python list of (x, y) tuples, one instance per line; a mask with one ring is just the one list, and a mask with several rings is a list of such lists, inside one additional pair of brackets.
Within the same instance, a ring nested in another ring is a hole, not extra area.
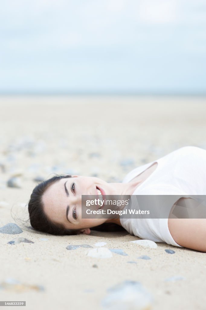
[[(79, 175), (55, 176), (34, 188), (28, 210), (34, 229), (54, 235), (89, 234), (90, 229), (116, 226), (143, 239), (206, 251), (205, 218), (171, 218), (175, 207), (197, 204), (188, 195), (205, 193), (206, 150), (186, 146), (132, 170), (122, 183)], [(172, 204), (164, 206), (168, 215), (164, 219), (83, 219), (81, 195), (175, 196)]]

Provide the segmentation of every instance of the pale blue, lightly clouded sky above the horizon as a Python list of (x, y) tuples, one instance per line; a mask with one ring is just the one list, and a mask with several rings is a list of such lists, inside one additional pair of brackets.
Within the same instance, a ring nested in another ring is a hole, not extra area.
[(0, 6), (0, 93), (206, 94), (205, 0)]

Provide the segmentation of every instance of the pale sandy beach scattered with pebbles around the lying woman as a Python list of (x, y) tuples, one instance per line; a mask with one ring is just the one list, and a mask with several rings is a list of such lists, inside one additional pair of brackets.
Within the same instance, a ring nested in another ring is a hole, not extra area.
[[(110, 309), (110, 288), (136, 281), (151, 300), (135, 309), (205, 309), (206, 253), (166, 243), (144, 248), (126, 231), (52, 236), (18, 222), (28, 219), (38, 179), (67, 173), (121, 182), (182, 146), (206, 149), (205, 97), (5, 96), (0, 111), (0, 227), (23, 230), (0, 233), (0, 300), (26, 301), (28, 310)], [(19, 187), (7, 185), (12, 178)], [(33, 243), (8, 243), (17, 237)], [(91, 248), (67, 249), (98, 242), (124, 254), (94, 258)]]

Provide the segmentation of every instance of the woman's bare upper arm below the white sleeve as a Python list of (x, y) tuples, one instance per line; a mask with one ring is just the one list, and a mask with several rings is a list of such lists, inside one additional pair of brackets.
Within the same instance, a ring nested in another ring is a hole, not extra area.
[[(200, 203), (192, 198), (180, 198), (172, 207), (168, 219), (169, 231), (177, 244), (189, 249), (206, 252), (206, 219), (174, 218), (175, 208), (184, 207), (189, 210), (193, 207), (196, 210)], [(206, 206), (203, 206), (206, 208)], [(185, 211), (187, 217), (188, 212)], [(173, 218), (171, 218), (173, 217)]]

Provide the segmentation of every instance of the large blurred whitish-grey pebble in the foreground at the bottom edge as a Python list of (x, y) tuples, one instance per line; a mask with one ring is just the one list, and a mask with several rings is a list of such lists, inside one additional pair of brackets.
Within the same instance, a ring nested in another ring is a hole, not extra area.
[(102, 300), (107, 310), (146, 310), (152, 308), (153, 298), (140, 282), (124, 281), (109, 288)]

